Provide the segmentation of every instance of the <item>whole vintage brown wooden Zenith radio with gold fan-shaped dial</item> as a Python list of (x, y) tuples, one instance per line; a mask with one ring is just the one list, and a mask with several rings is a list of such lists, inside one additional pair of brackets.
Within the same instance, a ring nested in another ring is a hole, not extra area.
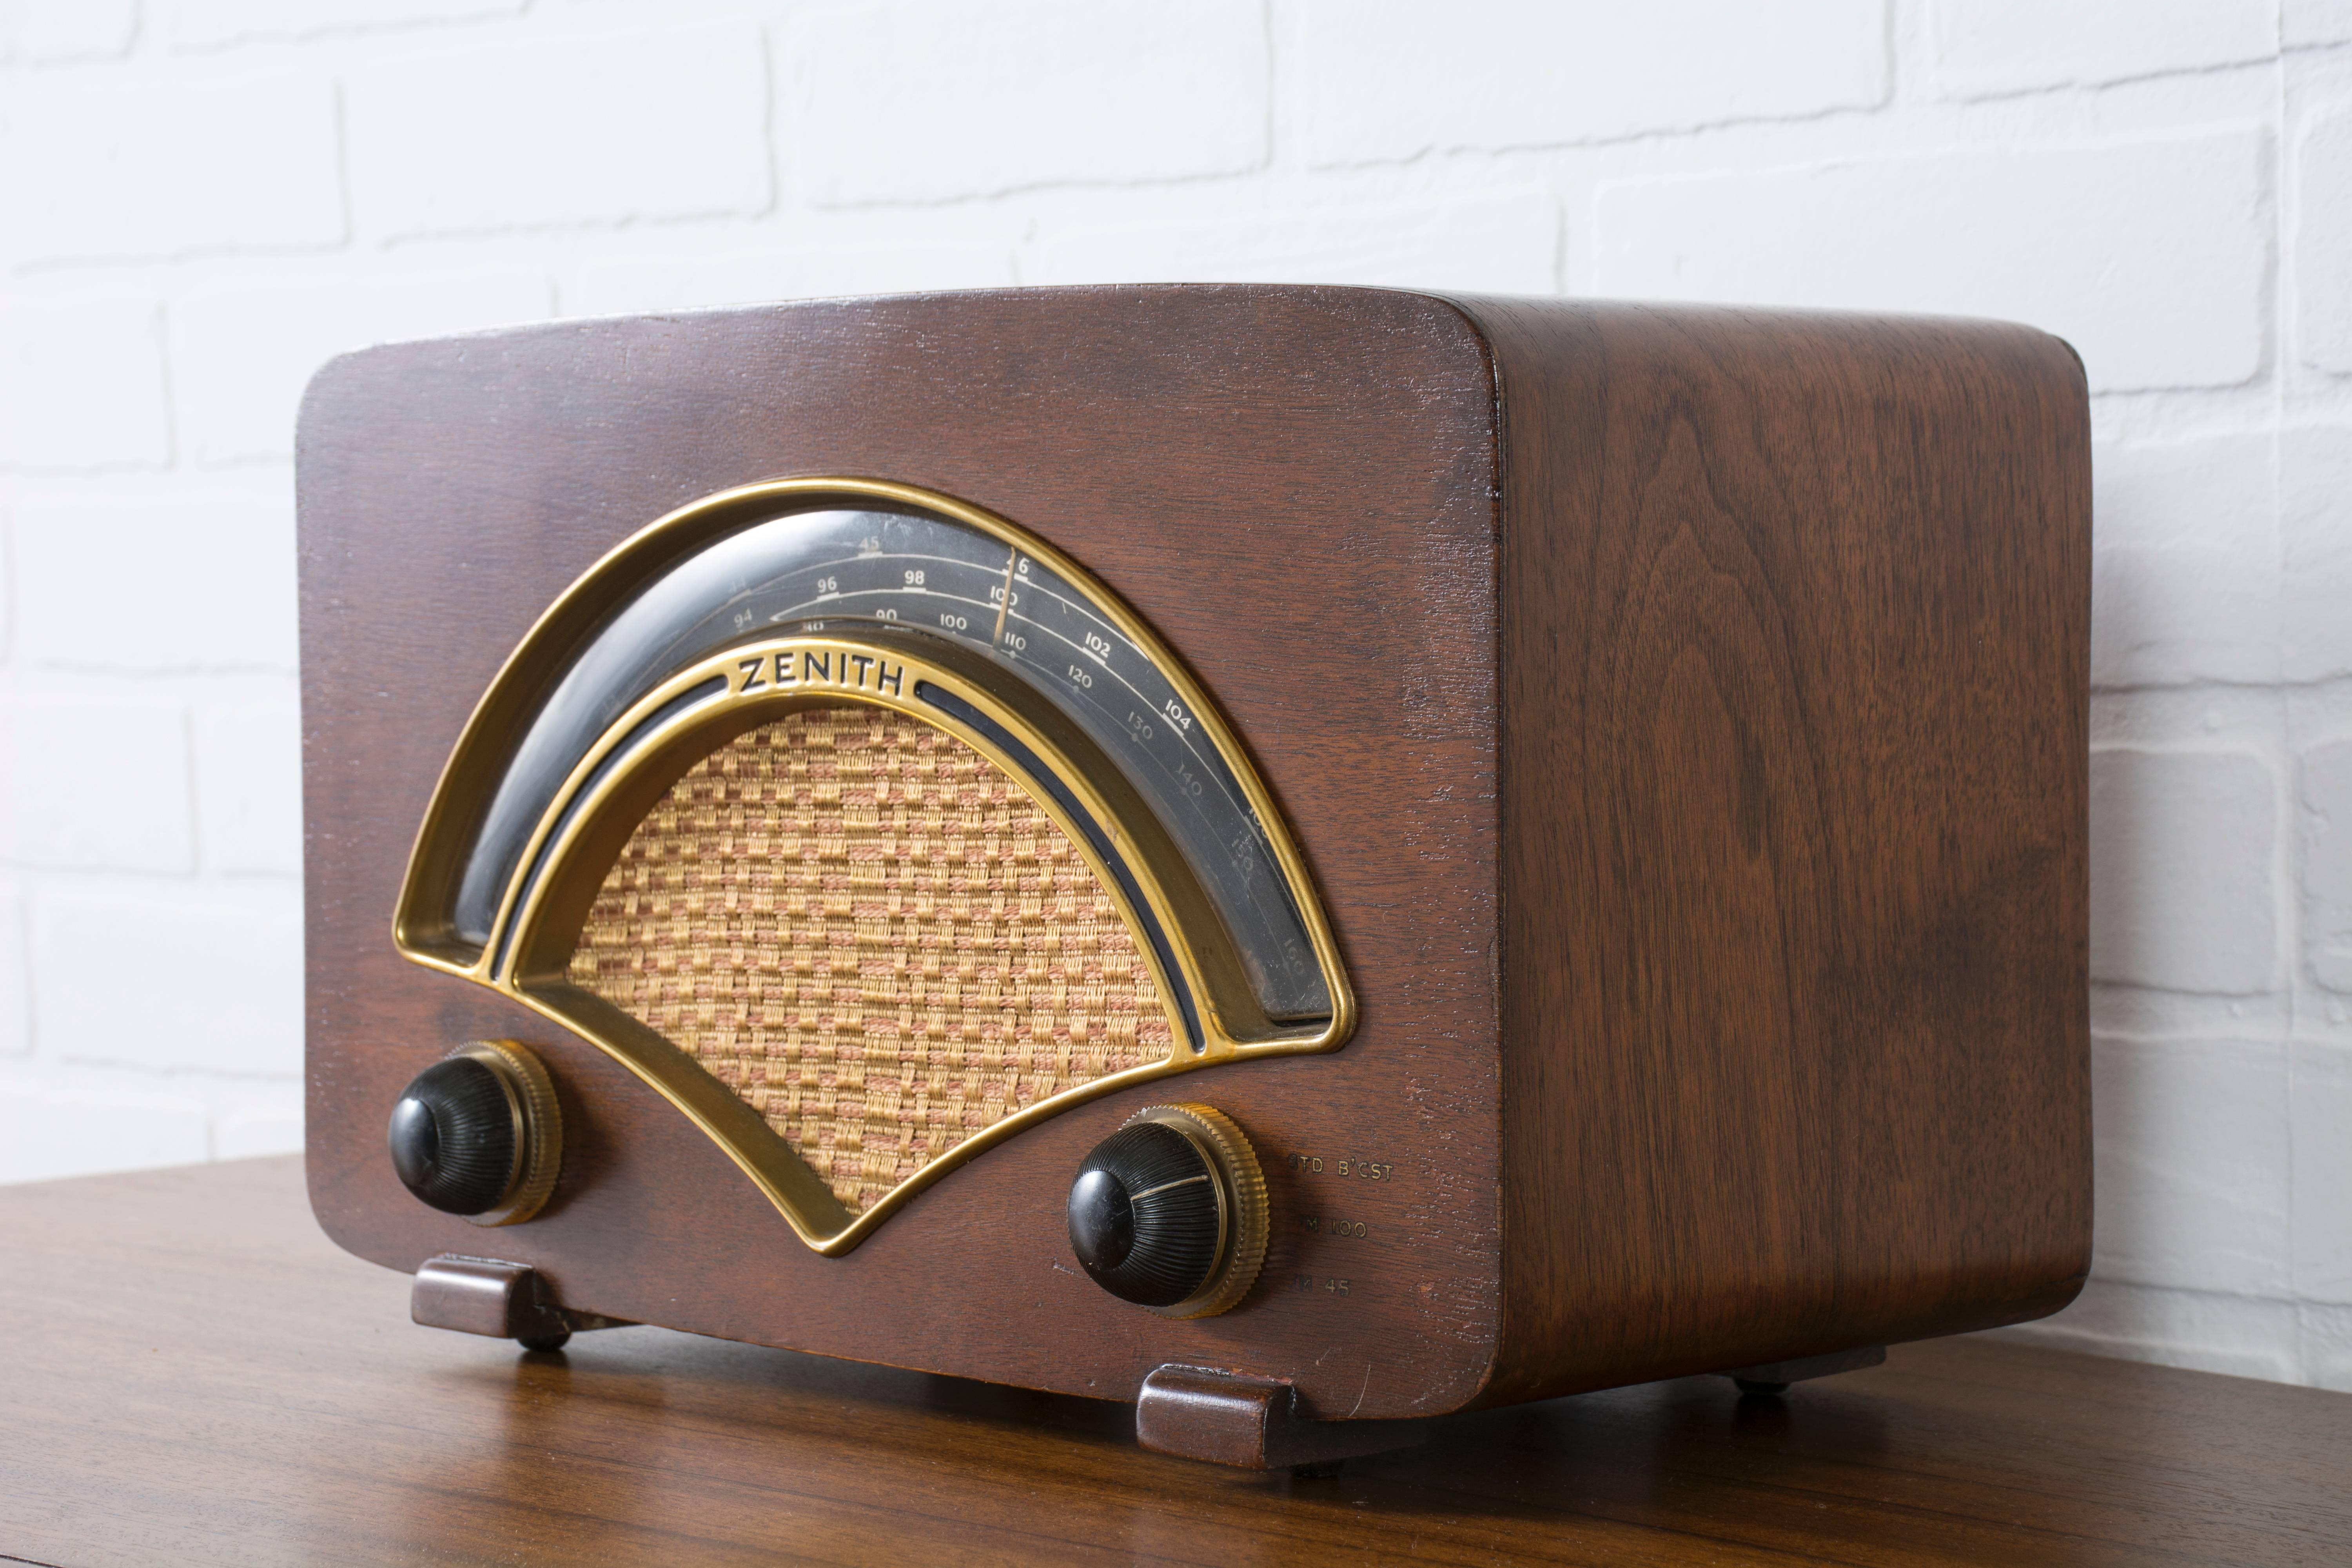
[(2051, 336), (564, 322), (336, 360), (299, 487), (310, 1194), (419, 1321), (1296, 1465), (2084, 1279)]

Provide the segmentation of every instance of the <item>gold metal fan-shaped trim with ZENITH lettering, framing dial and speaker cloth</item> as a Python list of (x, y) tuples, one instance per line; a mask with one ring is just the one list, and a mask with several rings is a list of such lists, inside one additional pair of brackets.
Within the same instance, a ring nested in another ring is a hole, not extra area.
[[(1028, 682), (957, 644), (891, 632), (844, 630), (753, 639), (661, 682), (614, 719), (548, 802), (501, 896), (489, 943), (475, 947), (456, 938), (447, 912), (449, 893), (470, 849), (475, 827), (470, 818), (499, 783), (501, 743), (562, 672), (579, 642), (652, 574), (703, 541), (771, 515), (779, 501), (828, 496), (913, 505), (1000, 538), (1082, 590), (1091, 609), (1157, 663), (1258, 816), (1331, 992), (1329, 1020), (1282, 1027), (1265, 1018), (1240, 954), (1183, 853), (1167, 839), (1157, 816), (1117, 764), (1103, 757), (1075, 722)], [(851, 668), (858, 668), (858, 679), (844, 679)], [(790, 679), (779, 679), (786, 670)], [(701, 686), (710, 691), (687, 701)], [(924, 689), (962, 703), (985, 719), (985, 726), (927, 701)], [(790, 1145), (691, 1056), (609, 1001), (572, 985), (564, 973), (595, 889), (661, 792), (734, 736), (793, 708), (840, 703), (910, 715), (955, 736), (1009, 773), (1070, 837), (1110, 891), (1136, 938), (1136, 950), (1150, 959), (1174, 1032), (1169, 1060), (1080, 1084), (976, 1131), (875, 1199), (863, 1215), (851, 1215)], [(666, 705), (675, 705), (675, 712), (656, 717)], [(1037, 778), (1004, 738), (1025, 748), (1049, 778)], [(1054, 785), (1068, 799), (1058, 797)], [(405, 957), (508, 994), (604, 1048), (701, 1126), (769, 1197), (793, 1232), (826, 1255), (851, 1251), (941, 1175), (1073, 1105), (1244, 1056), (1331, 1051), (1355, 1027), (1355, 997), (1305, 860), (1209, 693), (1150, 628), (1070, 557), (950, 496), (880, 480), (771, 480), (720, 491), (642, 529), (567, 588), (499, 670), (442, 769), (409, 856), (393, 940)], [(1188, 1027), (1183, 999), (1190, 999), (1200, 1046), (1192, 1044), (1195, 1027)]]

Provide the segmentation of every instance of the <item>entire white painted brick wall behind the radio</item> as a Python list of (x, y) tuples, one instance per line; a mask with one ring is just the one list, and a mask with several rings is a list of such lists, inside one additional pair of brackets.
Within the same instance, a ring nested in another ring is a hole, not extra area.
[(299, 1145), (289, 433), (374, 341), (1080, 280), (1957, 310), (2098, 463), (2098, 1269), (2352, 1389), (2352, 0), (0, 2), (0, 1180)]

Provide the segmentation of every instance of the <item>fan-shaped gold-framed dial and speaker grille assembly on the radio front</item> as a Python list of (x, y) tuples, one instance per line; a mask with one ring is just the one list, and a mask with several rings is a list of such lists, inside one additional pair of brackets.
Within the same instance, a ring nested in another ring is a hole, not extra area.
[(1018, 527), (847, 477), (696, 501), (557, 597), (397, 945), (602, 1046), (823, 1253), (1084, 1098), (1352, 1025), (1176, 656)]

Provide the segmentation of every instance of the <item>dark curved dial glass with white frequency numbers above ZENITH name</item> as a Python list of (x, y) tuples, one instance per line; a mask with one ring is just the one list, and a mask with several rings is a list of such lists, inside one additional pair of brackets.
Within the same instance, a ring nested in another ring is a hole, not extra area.
[(1265, 1016), (1331, 1016), (1265, 825), (1160, 661), (1047, 562), (913, 508), (779, 512), (670, 564), (623, 602), (515, 745), (466, 858), (459, 933), (489, 940), (541, 811), (583, 748), (644, 691), (734, 642), (842, 625), (946, 637), (1042, 691), (1152, 806), (1232, 933)]

